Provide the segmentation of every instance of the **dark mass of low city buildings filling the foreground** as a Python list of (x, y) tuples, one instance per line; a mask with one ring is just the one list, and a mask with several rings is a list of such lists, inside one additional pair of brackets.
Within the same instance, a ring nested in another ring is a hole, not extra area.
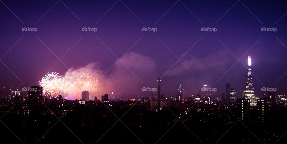
[(280, 101), (271, 107), (275, 94), (260, 98), (256, 106), (248, 98), (225, 105), (211, 97), (186, 97), (180, 104), (161, 97), (158, 109), (157, 98), (108, 101), (103, 95), (101, 102), (58, 96), (44, 102), (39, 101), (41, 93), (40, 87), (31, 87), (20, 103), (1, 100), (1, 143), (271, 144), (287, 140), (287, 108)]

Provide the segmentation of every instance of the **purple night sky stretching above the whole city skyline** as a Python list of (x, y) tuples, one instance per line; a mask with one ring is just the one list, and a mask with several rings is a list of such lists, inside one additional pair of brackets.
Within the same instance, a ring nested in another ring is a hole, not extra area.
[[(172, 96), (177, 84), (187, 95), (195, 95), (201, 82), (216, 87), (217, 96), (230, 82), (239, 96), (239, 90), (245, 90), (250, 55), (255, 95), (266, 93), (261, 87), (286, 93), (287, 1), (56, 2), (0, 3), (0, 90), (8, 93), (13, 82), (15, 90), (20, 81), (20, 89), (38, 85), (47, 72), (65, 75), (70, 69), (102, 77), (101, 95), (125, 91), (136, 96), (142, 87), (156, 87), (162, 77), (165, 96)], [(37, 31), (22, 31), (23, 27)], [(97, 31), (82, 31), (83, 27)], [(142, 31), (143, 27), (157, 31)], [(217, 31), (201, 31), (202, 27)], [(262, 27), (277, 31), (261, 31)]]

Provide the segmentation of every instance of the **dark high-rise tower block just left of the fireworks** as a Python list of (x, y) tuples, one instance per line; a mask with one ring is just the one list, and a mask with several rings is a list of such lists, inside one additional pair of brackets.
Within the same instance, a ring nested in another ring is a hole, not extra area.
[(28, 107), (30, 110), (40, 110), (42, 102), (42, 87), (32, 86), (28, 88)]

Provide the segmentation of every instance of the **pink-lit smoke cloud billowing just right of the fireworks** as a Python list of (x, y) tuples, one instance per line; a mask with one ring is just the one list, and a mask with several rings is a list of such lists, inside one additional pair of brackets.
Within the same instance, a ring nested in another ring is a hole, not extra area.
[[(109, 98), (112, 98), (113, 91), (114, 95), (125, 92), (136, 96), (140, 95), (139, 91), (143, 84), (144, 86), (149, 85), (148, 79), (152, 77), (155, 68), (155, 62), (150, 57), (130, 52), (119, 61), (116, 60), (111, 69), (102, 70), (101, 63), (93, 62), (80, 68), (72, 67), (65, 73), (65, 76), (70, 75), (75, 78), (83, 72), (88, 72), (94, 78), (98, 78), (99, 87), (97, 91), (89, 92), (91, 98), (98, 96), (99, 93), (99, 97), (108, 94)], [(70, 99), (81, 99), (81, 92), (70, 94), (69, 97)]]

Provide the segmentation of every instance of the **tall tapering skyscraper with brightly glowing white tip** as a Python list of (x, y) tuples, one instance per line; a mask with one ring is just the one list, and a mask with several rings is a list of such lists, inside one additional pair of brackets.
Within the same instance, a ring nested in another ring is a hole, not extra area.
[(255, 106), (257, 101), (254, 95), (254, 88), (253, 88), (253, 80), (252, 80), (252, 72), (251, 72), (251, 58), (248, 56), (247, 62), (247, 76), (246, 76), (246, 87), (244, 97), (250, 99), (250, 106)]

